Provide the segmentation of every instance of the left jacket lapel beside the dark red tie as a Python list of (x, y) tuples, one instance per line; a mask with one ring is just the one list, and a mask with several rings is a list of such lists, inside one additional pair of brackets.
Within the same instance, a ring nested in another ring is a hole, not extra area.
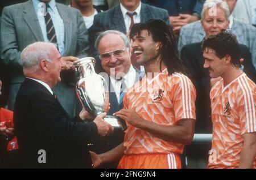
[(125, 19), (123, 19), (121, 7), (116, 6), (116, 7), (114, 7), (113, 11), (114, 11), (113, 16), (112, 16), (113, 27), (111, 27), (111, 28), (115, 29), (117, 31), (121, 31), (122, 33), (126, 34)]

